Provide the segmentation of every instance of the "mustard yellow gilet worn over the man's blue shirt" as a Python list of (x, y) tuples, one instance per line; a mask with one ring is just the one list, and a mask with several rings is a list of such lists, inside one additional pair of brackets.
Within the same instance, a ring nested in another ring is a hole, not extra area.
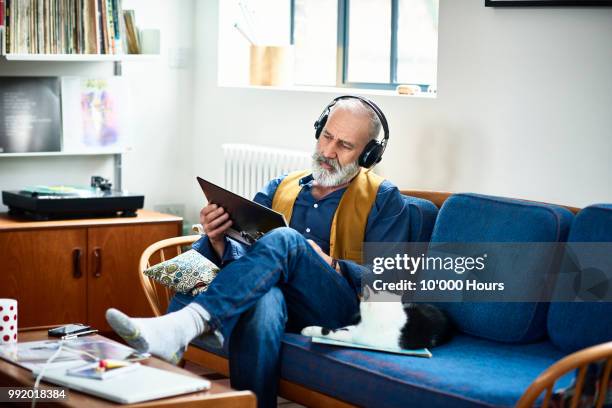
[[(311, 170), (289, 173), (274, 193), (272, 209), (284, 214), (287, 223), (291, 222), (293, 205), (302, 190), (300, 179), (310, 173)], [(383, 181), (382, 177), (361, 169), (347, 187), (334, 213), (329, 234), (329, 252), (333, 258), (362, 262), (368, 215)]]

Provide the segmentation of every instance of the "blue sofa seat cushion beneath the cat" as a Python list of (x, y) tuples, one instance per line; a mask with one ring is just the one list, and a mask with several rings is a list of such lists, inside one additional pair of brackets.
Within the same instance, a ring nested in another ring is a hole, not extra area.
[[(313, 344), (285, 334), (282, 378), (359, 406), (513, 406), (564, 354), (549, 342), (500, 344), (467, 335), (432, 350), (433, 358)], [(571, 376), (556, 387), (569, 384)]]

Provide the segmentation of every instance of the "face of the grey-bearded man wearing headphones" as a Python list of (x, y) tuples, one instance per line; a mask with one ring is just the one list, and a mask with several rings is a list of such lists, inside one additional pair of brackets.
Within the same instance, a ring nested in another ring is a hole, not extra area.
[(337, 108), (329, 115), (313, 155), (313, 176), (319, 184), (344, 184), (359, 171), (357, 159), (369, 141), (370, 118)]

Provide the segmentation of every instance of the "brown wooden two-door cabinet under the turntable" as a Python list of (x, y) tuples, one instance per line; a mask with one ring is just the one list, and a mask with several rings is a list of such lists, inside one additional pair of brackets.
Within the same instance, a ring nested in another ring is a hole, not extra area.
[(109, 307), (151, 316), (138, 260), (153, 242), (180, 235), (182, 219), (18, 221), (0, 215), (0, 297), (19, 302), (19, 326), (86, 322), (108, 331)]

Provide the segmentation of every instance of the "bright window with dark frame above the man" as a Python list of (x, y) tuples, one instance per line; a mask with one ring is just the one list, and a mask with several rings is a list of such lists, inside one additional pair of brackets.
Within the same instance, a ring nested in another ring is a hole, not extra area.
[(438, 3), (222, 1), (220, 83), (249, 82), (249, 39), (257, 45), (291, 49), (293, 85), (395, 89), (411, 84), (435, 90)]

